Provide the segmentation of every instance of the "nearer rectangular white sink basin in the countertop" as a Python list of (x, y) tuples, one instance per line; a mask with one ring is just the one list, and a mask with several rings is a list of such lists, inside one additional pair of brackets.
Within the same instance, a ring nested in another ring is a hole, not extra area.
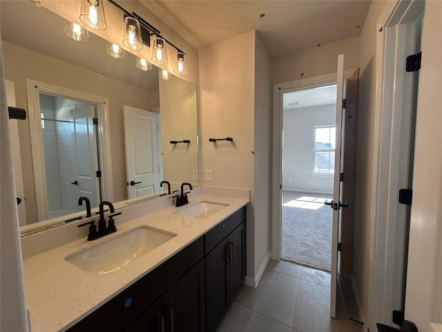
[(141, 226), (65, 258), (80, 270), (107, 275), (146, 255), (177, 234)]

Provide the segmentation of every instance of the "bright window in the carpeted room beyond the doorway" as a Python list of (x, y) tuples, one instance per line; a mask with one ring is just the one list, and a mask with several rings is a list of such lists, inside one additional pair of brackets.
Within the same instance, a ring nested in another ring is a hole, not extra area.
[(314, 174), (334, 174), (336, 127), (314, 127)]

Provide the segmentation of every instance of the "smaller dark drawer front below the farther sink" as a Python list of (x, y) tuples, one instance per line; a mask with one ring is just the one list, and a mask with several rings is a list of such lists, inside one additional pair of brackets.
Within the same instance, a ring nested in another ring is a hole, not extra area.
[(227, 237), (235, 228), (245, 221), (246, 208), (241, 208), (231, 216), (218, 223), (204, 235), (204, 252), (209, 253), (215, 246)]

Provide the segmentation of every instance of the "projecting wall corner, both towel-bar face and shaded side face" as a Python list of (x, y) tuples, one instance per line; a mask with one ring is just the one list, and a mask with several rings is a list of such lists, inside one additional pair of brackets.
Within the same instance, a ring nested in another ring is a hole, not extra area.
[[(269, 252), (269, 78), (269, 55), (254, 31), (200, 50), (200, 146), (203, 174), (211, 169), (212, 176), (203, 184), (251, 190), (247, 277), (253, 279)], [(226, 137), (233, 142), (209, 142)]]

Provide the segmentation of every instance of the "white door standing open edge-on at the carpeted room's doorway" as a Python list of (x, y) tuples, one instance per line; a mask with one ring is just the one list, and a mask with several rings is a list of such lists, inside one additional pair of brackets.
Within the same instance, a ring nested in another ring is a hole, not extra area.
[(332, 224), (332, 284), (330, 288), (330, 316), (336, 317), (336, 288), (338, 284), (338, 237), (340, 223), (340, 164), (343, 122), (343, 91), (344, 91), (344, 55), (338, 56), (336, 91), (336, 145), (334, 155), (333, 181), (333, 224)]

